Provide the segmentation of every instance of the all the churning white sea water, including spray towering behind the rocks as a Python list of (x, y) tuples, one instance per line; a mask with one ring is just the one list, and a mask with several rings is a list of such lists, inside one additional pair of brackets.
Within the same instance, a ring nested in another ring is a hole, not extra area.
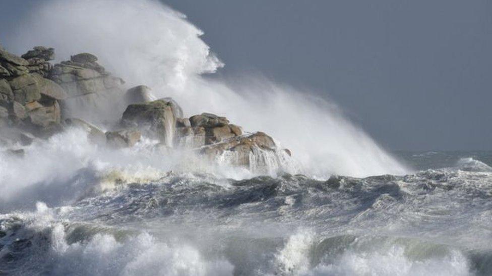
[(52, 0), (6, 43), (95, 53), (186, 116), (265, 131), (295, 160), (256, 152), (236, 168), (231, 156), (156, 154), (146, 138), (101, 148), (75, 129), (23, 158), (1, 149), (0, 274), (492, 274), (491, 152), (394, 157), (304, 91), (203, 77), (223, 63), (201, 34), (154, 1)]

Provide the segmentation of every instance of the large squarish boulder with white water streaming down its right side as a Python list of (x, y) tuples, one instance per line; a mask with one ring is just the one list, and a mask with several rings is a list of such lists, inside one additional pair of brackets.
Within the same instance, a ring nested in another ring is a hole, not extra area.
[(136, 124), (149, 136), (158, 138), (168, 146), (172, 145), (176, 125), (175, 103), (157, 100), (150, 103), (129, 105), (121, 122), (125, 126)]

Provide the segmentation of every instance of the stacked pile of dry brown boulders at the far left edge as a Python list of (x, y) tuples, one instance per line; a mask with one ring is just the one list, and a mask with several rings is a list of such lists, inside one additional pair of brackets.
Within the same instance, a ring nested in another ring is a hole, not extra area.
[(58, 100), (66, 93), (43, 77), (53, 57), (52, 48), (35, 47), (19, 57), (0, 47), (0, 126), (17, 127), (39, 137), (61, 130)]

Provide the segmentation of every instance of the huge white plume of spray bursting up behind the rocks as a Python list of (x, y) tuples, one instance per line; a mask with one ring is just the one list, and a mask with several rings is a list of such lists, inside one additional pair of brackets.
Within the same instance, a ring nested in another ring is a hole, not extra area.
[(201, 76), (223, 63), (200, 39), (201, 30), (156, 1), (52, 0), (33, 11), (9, 38), (13, 50), (48, 45), (59, 60), (94, 53), (129, 85), (147, 84), (158, 98), (174, 98), (188, 116), (212, 112), (272, 135), (312, 175), (406, 170), (332, 103), (261, 77), (226, 82)]

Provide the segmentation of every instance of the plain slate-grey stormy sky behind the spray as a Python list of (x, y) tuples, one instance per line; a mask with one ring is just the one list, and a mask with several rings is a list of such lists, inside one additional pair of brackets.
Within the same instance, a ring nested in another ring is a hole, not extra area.
[[(0, 43), (35, 2), (0, 0)], [(489, 0), (164, 3), (204, 31), (219, 77), (310, 90), (392, 150), (492, 150)]]

